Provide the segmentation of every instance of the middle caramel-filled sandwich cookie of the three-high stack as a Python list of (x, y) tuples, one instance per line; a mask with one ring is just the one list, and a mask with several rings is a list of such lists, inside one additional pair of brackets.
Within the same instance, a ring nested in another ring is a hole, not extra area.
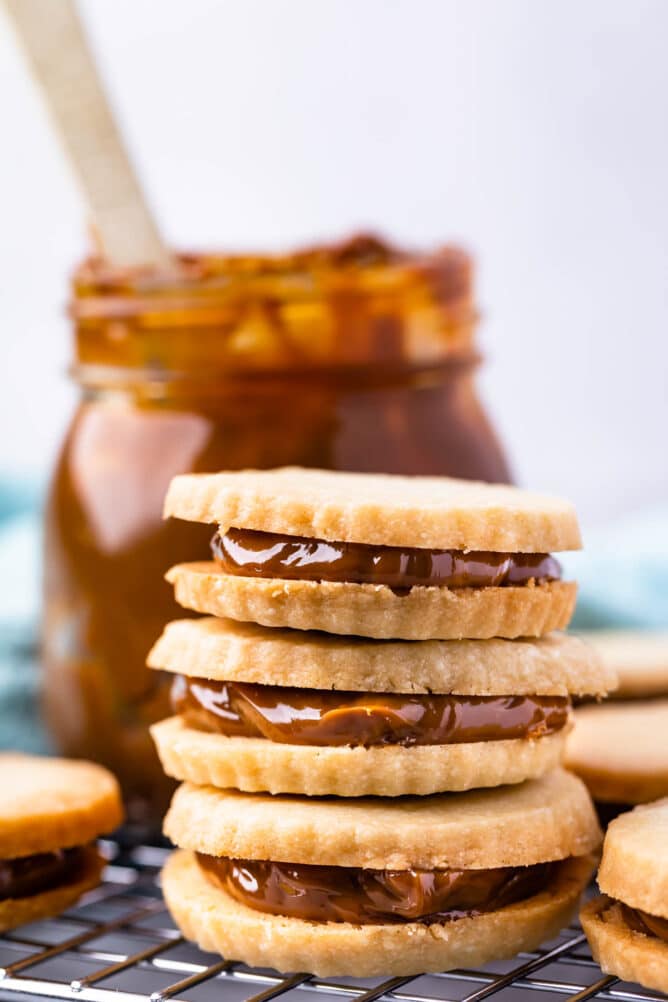
[(203, 618), (149, 654), (176, 715), (168, 776), (271, 794), (397, 797), (521, 783), (559, 765), (571, 694), (615, 683), (581, 640), (382, 641)]

